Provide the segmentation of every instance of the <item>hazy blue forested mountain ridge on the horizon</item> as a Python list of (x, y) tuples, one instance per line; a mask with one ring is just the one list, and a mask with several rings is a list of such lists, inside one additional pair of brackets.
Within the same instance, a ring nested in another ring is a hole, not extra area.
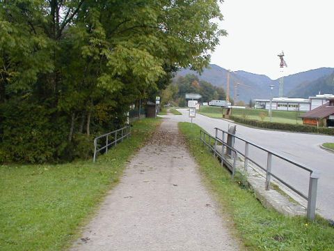
[[(294, 75), (289, 75), (284, 78), (284, 88), (283, 88), (284, 96), (302, 98), (305, 95), (308, 95), (307, 94), (308, 91), (304, 89), (308, 89), (309, 86), (311, 88), (312, 85), (310, 84), (315, 82), (317, 79), (321, 79), (321, 78), (325, 79), (326, 77), (331, 75), (333, 72), (334, 72), (334, 68), (319, 68), (315, 70), (308, 70), (303, 73), (296, 73)], [(177, 75), (175, 77), (184, 76), (187, 74), (197, 75), (199, 79), (210, 82), (214, 86), (223, 87), (223, 89), (226, 90), (227, 70), (224, 68), (221, 68), (220, 66), (211, 64), (209, 65), (209, 68), (206, 68), (201, 75), (199, 75), (193, 70), (182, 69), (179, 72), (177, 72)], [(244, 100), (245, 102), (248, 102), (250, 99), (253, 100), (255, 98), (269, 98), (270, 97), (270, 89), (269, 89), (270, 84), (275, 85), (273, 96), (278, 96), (278, 79), (273, 80), (267, 77), (266, 75), (248, 73), (243, 70), (235, 71), (231, 73), (230, 76), (231, 76), (230, 77), (230, 97), (231, 98), (234, 98), (235, 83), (239, 83), (239, 85), (237, 86), (237, 93), (239, 94), (239, 96), (237, 96), (237, 100)], [(321, 90), (318, 90), (318, 91), (321, 91)], [(318, 91), (316, 91), (316, 93), (313, 93), (314, 90), (310, 90), (310, 93), (312, 92), (311, 96), (314, 96), (315, 94), (317, 94)], [(321, 91), (321, 93), (324, 93), (324, 91)], [(333, 93), (333, 90), (328, 93)]]

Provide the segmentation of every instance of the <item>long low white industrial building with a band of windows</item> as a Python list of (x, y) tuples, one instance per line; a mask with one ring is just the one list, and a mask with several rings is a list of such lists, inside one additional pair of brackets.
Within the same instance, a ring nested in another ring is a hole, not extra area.
[[(333, 94), (322, 94), (315, 97), (305, 98), (273, 98), (271, 109), (280, 111), (303, 111), (308, 112), (312, 109), (326, 104), (328, 100), (334, 98)], [(269, 109), (269, 99), (255, 99), (255, 109)]]

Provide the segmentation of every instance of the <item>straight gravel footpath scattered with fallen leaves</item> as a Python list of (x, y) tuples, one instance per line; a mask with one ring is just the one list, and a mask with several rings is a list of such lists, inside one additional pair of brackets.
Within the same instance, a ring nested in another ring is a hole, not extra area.
[(177, 123), (134, 156), (72, 250), (239, 250)]

